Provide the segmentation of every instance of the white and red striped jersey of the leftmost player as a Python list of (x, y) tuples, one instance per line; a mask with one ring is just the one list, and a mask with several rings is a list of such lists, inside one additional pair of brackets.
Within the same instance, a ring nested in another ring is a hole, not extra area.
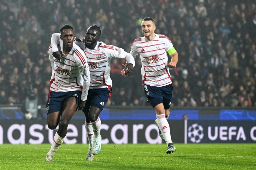
[[(60, 42), (61, 51), (63, 51), (62, 45)], [(90, 73), (85, 52), (78, 45), (73, 44), (73, 48), (64, 56), (65, 58), (53, 57), (52, 45), (50, 45), (48, 53), (53, 68), (50, 90), (55, 92), (83, 90), (82, 100), (86, 100)], [(88, 82), (87, 89), (83, 88), (85, 86), (84, 81)]]

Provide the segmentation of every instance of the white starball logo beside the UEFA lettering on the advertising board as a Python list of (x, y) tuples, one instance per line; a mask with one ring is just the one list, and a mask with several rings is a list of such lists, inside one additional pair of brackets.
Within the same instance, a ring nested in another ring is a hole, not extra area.
[(188, 128), (188, 137), (193, 143), (199, 143), (204, 137), (203, 127), (198, 124), (193, 124)]

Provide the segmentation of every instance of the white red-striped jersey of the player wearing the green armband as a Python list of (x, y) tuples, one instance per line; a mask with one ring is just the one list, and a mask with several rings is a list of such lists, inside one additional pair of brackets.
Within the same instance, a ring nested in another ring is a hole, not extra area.
[(167, 52), (173, 46), (168, 37), (156, 34), (153, 41), (145, 37), (137, 38), (132, 43), (130, 54), (141, 59), (141, 76), (144, 84), (165, 86), (172, 83), (169, 73)]

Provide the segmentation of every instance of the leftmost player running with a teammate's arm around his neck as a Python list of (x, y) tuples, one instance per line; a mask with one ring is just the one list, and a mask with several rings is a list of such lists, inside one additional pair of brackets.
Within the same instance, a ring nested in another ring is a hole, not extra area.
[(82, 110), (88, 95), (90, 72), (87, 58), (82, 49), (74, 44), (75, 34), (70, 25), (60, 29), (60, 50), (65, 59), (53, 57), (52, 46), (48, 53), (52, 65), (52, 77), (47, 101), (47, 125), (55, 129), (51, 150), (46, 155), (46, 161), (53, 162), (53, 156), (62, 144), (68, 123), (77, 109)]

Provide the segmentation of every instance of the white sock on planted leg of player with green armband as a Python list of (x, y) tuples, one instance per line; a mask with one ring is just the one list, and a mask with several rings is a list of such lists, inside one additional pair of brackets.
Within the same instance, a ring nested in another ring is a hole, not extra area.
[(158, 127), (164, 136), (166, 144), (172, 143), (170, 126), (165, 118), (165, 113), (161, 115), (156, 115), (156, 118), (157, 118)]

